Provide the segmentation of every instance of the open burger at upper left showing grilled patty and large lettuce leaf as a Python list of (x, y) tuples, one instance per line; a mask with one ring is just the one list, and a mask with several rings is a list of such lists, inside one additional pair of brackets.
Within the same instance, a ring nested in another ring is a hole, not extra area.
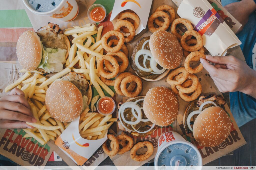
[(48, 25), (34, 31), (23, 32), (17, 42), (20, 65), (28, 70), (42, 73), (59, 72), (66, 62), (70, 42), (59, 25)]

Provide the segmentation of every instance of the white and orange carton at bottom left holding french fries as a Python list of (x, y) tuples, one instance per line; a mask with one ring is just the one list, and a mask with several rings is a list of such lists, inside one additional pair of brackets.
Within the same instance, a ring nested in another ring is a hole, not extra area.
[(107, 135), (105, 134), (104, 138), (97, 140), (82, 138), (78, 129), (79, 119), (80, 116), (70, 123), (66, 130), (56, 139), (55, 144), (77, 165), (83, 165), (107, 140)]

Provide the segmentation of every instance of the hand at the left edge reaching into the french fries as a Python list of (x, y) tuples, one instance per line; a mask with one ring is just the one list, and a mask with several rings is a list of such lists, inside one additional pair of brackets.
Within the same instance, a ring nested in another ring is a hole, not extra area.
[(34, 128), (26, 122), (36, 121), (22, 90), (14, 88), (9, 95), (0, 98), (0, 128)]

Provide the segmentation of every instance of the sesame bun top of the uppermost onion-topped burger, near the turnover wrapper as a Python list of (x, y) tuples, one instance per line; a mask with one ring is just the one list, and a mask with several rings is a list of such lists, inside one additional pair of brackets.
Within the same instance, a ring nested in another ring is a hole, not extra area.
[(149, 46), (156, 62), (165, 69), (175, 69), (182, 61), (182, 47), (177, 38), (167, 31), (154, 32)]

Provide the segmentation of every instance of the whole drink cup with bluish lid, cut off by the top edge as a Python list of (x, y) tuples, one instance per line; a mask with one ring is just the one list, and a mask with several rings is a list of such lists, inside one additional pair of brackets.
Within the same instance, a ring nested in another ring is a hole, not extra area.
[(23, 3), (34, 14), (50, 16), (62, 21), (72, 21), (79, 11), (76, 0), (58, 0), (51, 4), (45, 0), (23, 0)]

